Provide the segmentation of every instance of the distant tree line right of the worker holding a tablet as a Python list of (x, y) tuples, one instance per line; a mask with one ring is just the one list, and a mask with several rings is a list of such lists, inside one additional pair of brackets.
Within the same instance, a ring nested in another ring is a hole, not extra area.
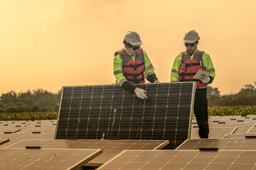
[(246, 84), (237, 94), (220, 96), (218, 88), (208, 86), (208, 106), (248, 106), (256, 105), (256, 81)]

